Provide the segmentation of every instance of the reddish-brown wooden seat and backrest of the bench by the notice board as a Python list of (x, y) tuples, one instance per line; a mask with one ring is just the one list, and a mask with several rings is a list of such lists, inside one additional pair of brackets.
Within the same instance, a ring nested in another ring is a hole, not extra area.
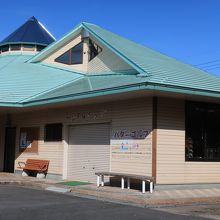
[(18, 168), (23, 170), (46, 172), (48, 170), (49, 162), (49, 160), (27, 159), (26, 163), (18, 162)]

